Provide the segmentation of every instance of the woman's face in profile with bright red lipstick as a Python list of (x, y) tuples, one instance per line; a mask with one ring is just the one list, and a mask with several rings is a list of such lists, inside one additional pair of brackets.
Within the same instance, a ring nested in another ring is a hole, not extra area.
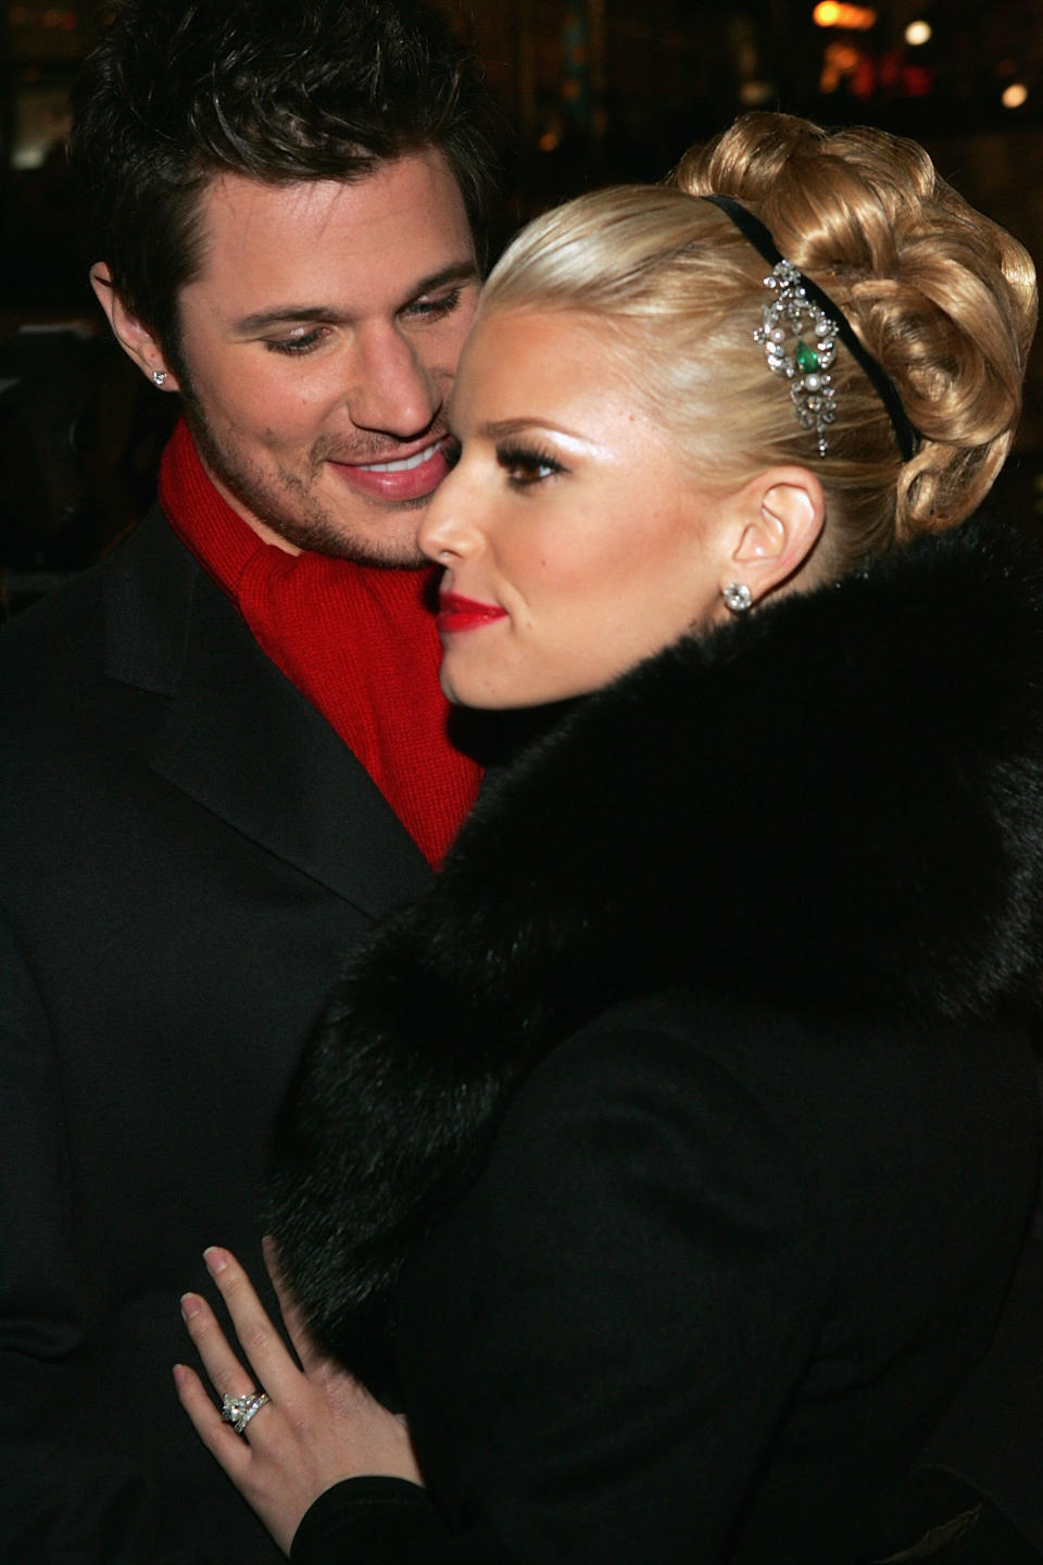
[(494, 311), (468, 340), (460, 462), (421, 527), (452, 701), (583, 695), (719, 613), (727, 499), (693, 487), (630, 376), (579, 313)]

